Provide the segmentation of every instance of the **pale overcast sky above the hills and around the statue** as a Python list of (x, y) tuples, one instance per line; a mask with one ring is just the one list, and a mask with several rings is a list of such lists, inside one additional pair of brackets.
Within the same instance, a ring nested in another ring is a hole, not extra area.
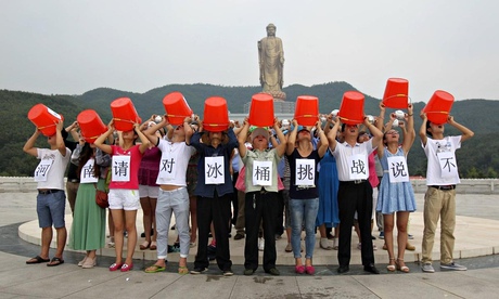
[(401, 77), (413, 102), (437, 89), (499, 100), (498, 11), (487, 0), (0, 1), (0, 88), (257, 86), (256, 44), (273, 23), (284, 86), (347, 81), (382, 98)]

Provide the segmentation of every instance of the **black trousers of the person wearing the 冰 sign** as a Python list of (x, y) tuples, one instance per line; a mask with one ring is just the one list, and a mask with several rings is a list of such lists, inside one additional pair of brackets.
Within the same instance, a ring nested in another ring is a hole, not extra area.
[(197, 196), (197, 253), (194, 260), (194, 268), (208, 268), (207, 244), (209, 225), (215, 227), (217, 239), (216, 259), (221, 271), (231, 270), (229, 248), (229, 220), (230, 220), (230, 199), (231, 194), (218, 197)]

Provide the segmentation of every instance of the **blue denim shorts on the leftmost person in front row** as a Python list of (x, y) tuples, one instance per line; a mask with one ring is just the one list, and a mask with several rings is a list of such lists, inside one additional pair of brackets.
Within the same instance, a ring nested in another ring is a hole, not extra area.
[(54, 193), (41, 194), (37, 196), (38, 225), (40, 227), (55, 229), (66, 226), (64, 213), (66, 210), (66, 194), (60, 190)]

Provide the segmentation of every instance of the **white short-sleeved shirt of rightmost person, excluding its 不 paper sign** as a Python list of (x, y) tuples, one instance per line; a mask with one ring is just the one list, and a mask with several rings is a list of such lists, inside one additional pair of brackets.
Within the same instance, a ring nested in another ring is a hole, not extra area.
[(456, 176), (451, 178), (443, 178), (438, 154), (451, 153), (456, 158), (456, 150), (461, 148), (461, 136), (446, 136), (442, 140), (427, 138), (426, 146), (421, 144), (424, 154), (427, 157), (426, 166), (426, 185), (455, 185), (459, 184), (458, 164), (457, 160), (451, 162), (451, 167), (456, 167)]

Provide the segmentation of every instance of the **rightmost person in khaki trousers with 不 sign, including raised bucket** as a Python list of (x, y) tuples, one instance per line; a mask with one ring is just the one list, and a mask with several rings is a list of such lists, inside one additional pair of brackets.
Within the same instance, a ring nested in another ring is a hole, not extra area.
[[(445, 91), (436, 91), (426, 107), (421, 112), (423, 119), (420, 128), (421, 145), (427, 157), (426, 185), (424, 195), (424, 231), (422, 244), (422, 270), (423, 272), (435, 272), (432, 265), (432, 250), (440, 219), (440, 269), (444, 270), (466, 270), (453, 261), (453, 245), (456, 226), (456, 185), (460, 183), (456, 151), (461, 148), (461, 143), (470, 140), (474, 132), (458, 123), (450, 113), (450, 105), (446, 113), (444, 108), (436, 108), (434, 113), (432, 105), (442, 102), (453, 102), (453, 96)], [(446, 118), (447, 117), (447, 118)], [(445, 122), (461, 132), (461, 135), (445, 136)]]

